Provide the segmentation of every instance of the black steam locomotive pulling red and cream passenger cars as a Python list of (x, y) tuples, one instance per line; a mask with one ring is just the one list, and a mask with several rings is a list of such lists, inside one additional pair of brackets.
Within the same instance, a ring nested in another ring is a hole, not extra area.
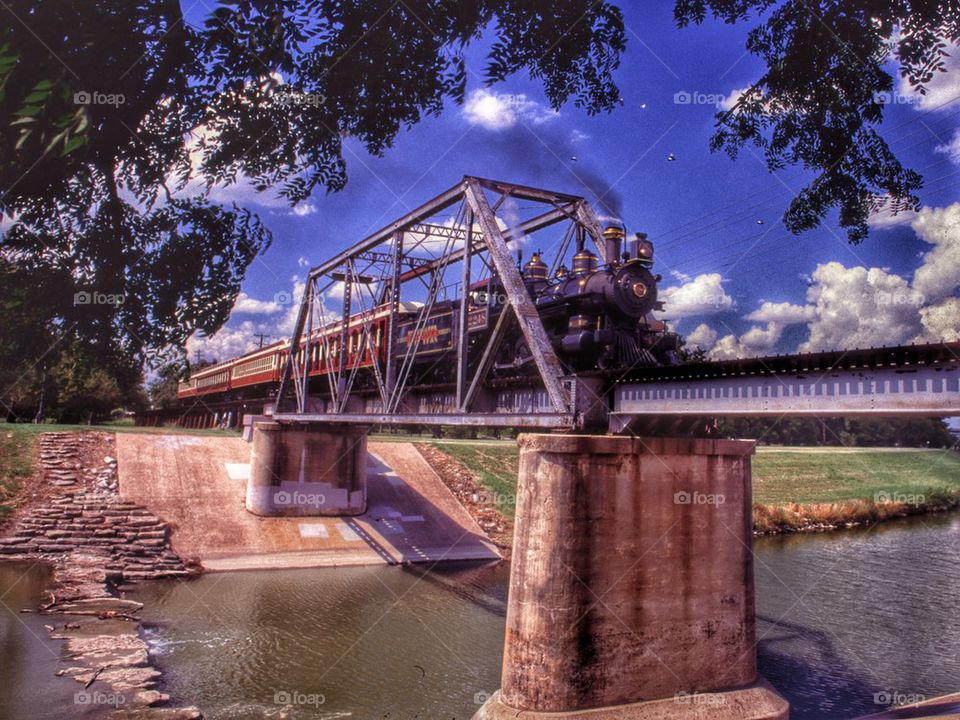
[[(653, 315), (662, 309), (657, 300), (660, 276), (652, 271), (653, 244), (643, 233), (637, 233), (626, 247), (624, 241), (621, 227), (603, 231), (604, 254), (609, 259), (603, 266), (582, 241), (570, 268), (561, 264), (551, 273), (540, 253), (522, 264), (529, 301), (570, 373), (612, 377), (635, 367), (677, 363), (677, 335)], [(425, 319), (420, 317), (419, 303), (400, 303), (394, 353), (414, 359), (408, 385), (440, 387), (454, 379), (461, 302), (469, 304), (466, 330), (468, 347), (472, 347), (485, 346), (500, 315), (512, 312), (506, 299), (503, 285), (492, 276), (471, 284), (466, 297), (434, 303)], [(389, 316), (390, 306), (382, 305), (372, 313), (348, 318), (346, 333), (340, 321), (313, 331), (310, 375), (319, 392), (323, 383), (318, 379), (339, 371), (341, 363), (345, 369), (369, 369), (372, 391), (374, 364), (382, 367), (388, 352)], [(301, 364), (304, 351), (301, 343), (297, 350)], [(281, 341), (195, 371), (180, 384), (178, 397), (184, 403), (203, 397), (205, 404), (269, 400), (276, 393), (288, 352), (289, 342)], [(522, 382), (535, 375), (532, 354), (516, 323), (500, 344), (492, 372), (494, 381)]]

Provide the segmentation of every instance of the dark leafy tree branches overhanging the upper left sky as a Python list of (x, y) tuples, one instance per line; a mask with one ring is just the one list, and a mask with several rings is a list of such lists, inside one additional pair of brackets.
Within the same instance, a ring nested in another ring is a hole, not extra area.
[(221, 0), (202, 25), (178, 0), (10, 0), (0, 16), (5, 258), (61, 278), (50, 317), (91, 348), (181, 367), (271, 241), (212, 186), (339, 190), (345, 138), (383, 153), (462, 99), (487, 29), (488, 81), (527, 70), (554, 107), (590, 112), (615, 105), (624, 47), (620, 11), (592, 0)]

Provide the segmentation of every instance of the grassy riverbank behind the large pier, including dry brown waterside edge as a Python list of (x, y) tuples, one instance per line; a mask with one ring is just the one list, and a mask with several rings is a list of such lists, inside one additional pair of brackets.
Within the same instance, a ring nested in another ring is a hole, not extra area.
[[(519, 454), (512, 442), (433, 441), (467, 467), (512, 518)], [(960, 454), (899, 448), (759, 448), (759, 532), (863, 524), (960, 506)]]

